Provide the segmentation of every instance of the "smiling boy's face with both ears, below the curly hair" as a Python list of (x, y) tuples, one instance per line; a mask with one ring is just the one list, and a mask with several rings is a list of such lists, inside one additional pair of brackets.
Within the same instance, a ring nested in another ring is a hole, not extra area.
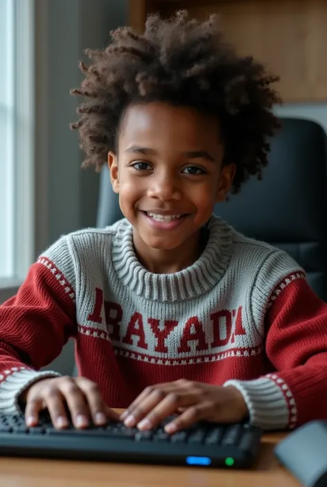
[(168, 251), (199, 238), (230, 190), (235, 166), (223, 168), (223, 157), (215, 118), (162, 102), (130, 106), (108, 165), (135, 240)]

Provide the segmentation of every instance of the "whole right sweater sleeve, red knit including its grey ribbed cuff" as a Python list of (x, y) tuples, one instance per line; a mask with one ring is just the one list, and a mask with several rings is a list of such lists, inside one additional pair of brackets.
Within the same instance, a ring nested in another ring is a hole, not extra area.
[(327, 304), (304, 274), (290, 274), (275, 287), (264, 324), (273, 372), (225, 385), (239, 389), (250, 420), (266, 430), (327, 419)]

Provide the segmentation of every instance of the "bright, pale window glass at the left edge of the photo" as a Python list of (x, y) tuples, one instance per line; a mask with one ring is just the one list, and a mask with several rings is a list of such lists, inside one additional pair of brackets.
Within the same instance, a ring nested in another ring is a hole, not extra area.
[(0, 303), (34, 259), (34, 2), (0, 1)]

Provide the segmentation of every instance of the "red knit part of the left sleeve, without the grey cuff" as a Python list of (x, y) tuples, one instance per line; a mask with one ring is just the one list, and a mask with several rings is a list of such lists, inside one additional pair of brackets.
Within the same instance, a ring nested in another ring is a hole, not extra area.
[(0, 307), (0, 373), (26, 364), (38, 370), (60, 354), (77, 333), (72, 293), (49, 260), (30, 267), (17, 295)]

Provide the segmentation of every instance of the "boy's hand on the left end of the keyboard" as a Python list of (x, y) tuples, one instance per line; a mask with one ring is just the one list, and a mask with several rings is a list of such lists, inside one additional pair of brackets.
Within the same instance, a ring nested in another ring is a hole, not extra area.
[(26, 401), (27, 426), (36, 426), (39, 412), (48, 409), (54, 427), (66, 428), (69, 424), (67, 407), (75, 428), (88, 426), (90, 417), (99, 426), (108, 419), (119, 421), (118, 415), (104, 403), (97, 384), (86, 377), (41, 379), (30, 385), (21, 399)]

